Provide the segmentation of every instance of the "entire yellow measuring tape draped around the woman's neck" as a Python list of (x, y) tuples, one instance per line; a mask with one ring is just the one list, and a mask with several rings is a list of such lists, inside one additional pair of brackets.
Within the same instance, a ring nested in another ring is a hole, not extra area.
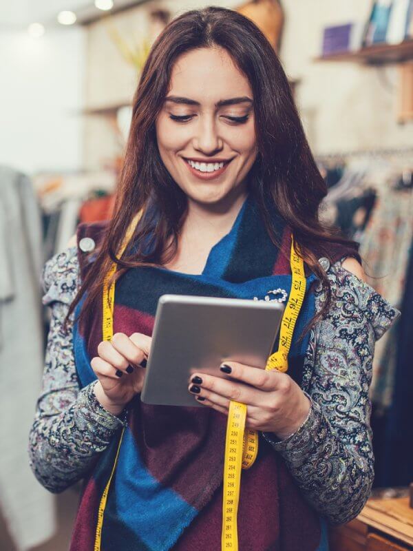
[[(118, 256), (122, 256), (136, 225), (142, 216), (140, 211), (131, 221), (123, 240)], [(115, 282), (112, 281), (116, 273), (116, 262), (112, 262), (103, 282), (103, 340), (111, 340), (114, 331), (114, 298)], [(291, 291), (284, 309), (279, 333), (279, 346), (277, 352), (268, 357), (266, 370), (278, 369), (287, 371), (288, 351), (293, 340), (295, 323), (301, 309), (306, 291), (306, 276), (304, 274), (304, 262), (294, 249), (294, 240), (291, 241), (290, 267), (293, 274)], [(222, 550), (237, 551), (237, 510), (240, 499), (241, 470), (248, 469), (253, 464), (258, 453), (258, 433), (256, 430), (245, 430), (247, 408), (245, 404), (231, 401), (229, 405), (228, 422), (226, 426), (225, 456), (224, 456), (224, 488), (222, 504)], [(96, 537), (94, 551), (100, 551), (102, 540), (103, 515), (107, 502), (109, 487), (114, 476), (116, 463), (122, 443), (123, 433), (120, 435), (116, 457), (109, 480), (103, 490), (98, 508), (98, 521), (96, 525)]]

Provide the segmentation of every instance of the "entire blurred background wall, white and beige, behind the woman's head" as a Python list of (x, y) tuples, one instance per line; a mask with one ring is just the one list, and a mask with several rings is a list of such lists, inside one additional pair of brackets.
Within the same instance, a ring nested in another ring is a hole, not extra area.
[[(235, 8), (241, 3), (222, 0), (218, 5)], [(59, 8), (76, 10), (85, 4), (1, 3), (0, 162), (31, 173), (104, 165), (122, 143), (119, 146), (107, 118), (90, 112), (130, 103), (138, 79), (136, 68), (109, 37), (108, 27), (131, 45), (147, 36), (150, 7), (164, 8), (175, 17), (209, 5), (198, 0), (149, 1), (114, 14), (110, 25), (98, 20), (74, 28), (53, 21)], [(363, 23), (371, 5), (370, 0), (282, 3), (285, 22), (279, 55), (288, 76), (298, 81), (297, 105), (315, 153), (413, 143), (412, 125), (396, 119), (395, 65), (315, 61), (323, 28)], [(52, 23), (41, 39), (28, 35), (26, 25), (33, 21)]]

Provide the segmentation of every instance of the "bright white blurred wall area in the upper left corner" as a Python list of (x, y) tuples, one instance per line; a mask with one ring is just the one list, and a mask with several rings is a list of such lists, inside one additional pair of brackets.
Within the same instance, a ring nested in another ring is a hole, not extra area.
[(0, 2), (0, 163), (31, 174), (78, 170), (85, 158), (84, 121), (74, 114), (85, 102), (87, 32), (54, 25), (30, 37), (41, 3)]

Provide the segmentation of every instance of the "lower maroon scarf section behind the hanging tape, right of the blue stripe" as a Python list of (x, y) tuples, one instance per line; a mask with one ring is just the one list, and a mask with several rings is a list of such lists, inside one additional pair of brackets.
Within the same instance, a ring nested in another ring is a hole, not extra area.
[[(315, 551), (319, 517), (303, 499), (284, 459), (260, 439), (255, 464), (242, 471), (237, 514), (241, 551)], [(222, 485), (173, 547), (173, 551), (220, 550)]]

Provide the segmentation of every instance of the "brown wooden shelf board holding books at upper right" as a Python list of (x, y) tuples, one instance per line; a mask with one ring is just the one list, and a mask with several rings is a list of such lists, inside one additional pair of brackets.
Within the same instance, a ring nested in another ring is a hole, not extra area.
[(355, 61), (368, 65), (384, 65), (385, 63), (400, 63), (413, 59), (413, 39), (400, 44), (379, 43), (357, 52), (342, 52), (329, 56), (315, 58), (315, 61)]

